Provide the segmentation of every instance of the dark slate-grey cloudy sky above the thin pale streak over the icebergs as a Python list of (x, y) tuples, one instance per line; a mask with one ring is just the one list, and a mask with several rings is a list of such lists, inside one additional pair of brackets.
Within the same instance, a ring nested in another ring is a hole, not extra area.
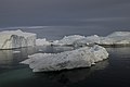
[(0, 0), (0, 27), (130, 23), (130, 0)]

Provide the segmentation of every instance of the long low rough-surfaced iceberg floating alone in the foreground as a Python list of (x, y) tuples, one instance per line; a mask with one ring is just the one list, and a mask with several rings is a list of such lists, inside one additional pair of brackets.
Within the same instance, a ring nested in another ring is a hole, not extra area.
[(32, 72), (48, 72), (87, 67), (108, 58), (105, 48), (94, 45), (61, 53), (36, 53), (21, 62), (29, 64)]

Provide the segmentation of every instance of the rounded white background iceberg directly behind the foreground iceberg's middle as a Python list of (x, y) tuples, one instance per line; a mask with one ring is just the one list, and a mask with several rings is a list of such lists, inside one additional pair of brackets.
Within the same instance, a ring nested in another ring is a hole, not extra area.
[(55, 40), (53, 41), (52, 45), (54, 46), (72, 46), (74, 45), (74, 42), (78, 39), (82, 39), (84, 38), (84, 36), (80, 36), (80, 35), (72, 35), (72, 36), (65, 36), (63, 39), (61, 40)]

